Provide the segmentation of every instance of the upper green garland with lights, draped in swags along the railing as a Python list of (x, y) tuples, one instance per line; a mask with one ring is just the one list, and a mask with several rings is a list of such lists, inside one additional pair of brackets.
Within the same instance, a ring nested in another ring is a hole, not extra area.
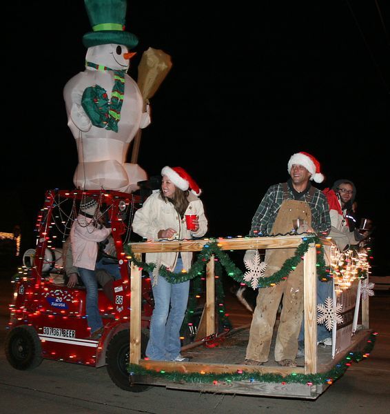
[[(188, 272), (174, 273), (162, 265), (159, 268), (159, 274), (162, 275), (169, 283), (176, 284), (186, 282), (189, 279), (194, 279), (194, 277), (202, 275), (205, 265), (209, 262), (212, 255), (214, 255), (218, 257), (220, 264), (225, 267), (226, 273), (229, 277), (232, 277), (232, 279), (236, 280), (236, 282), (239, 282), (240, 284), (250, 286), (249, 282), (245, 281), (243, 272), (234, 264), (234, 262), (232, 262), (227, 253), (220, 250), (218, 242), (214, 241), (215, 239), (211, 240), (212, 241), (209, 244), (205, 244), (205, 246), (203, 246), (203, 249), (198, 254), (196, 262), (194, 262)], [(282, 268), (280, 268), (280, 270), (275, 272), (273, 275), (269, 277), (261, 277), (258, 280), (258, 288), (274, 286), (287, 279), (291, 270), (294, 270), (296, 266), (298, 266), (303, 255), (305, 255), (309, 249), (309, 244), (312, 243), (315, 243), (316, 245), (320, 244), (320, 239), (317, 236), (303, 237), (302, 243), (298, 246), (298, 248), (296, 248), (295, 255), (287, 259)], [(143, 268), (150, 273), (154, 270), (154, 268), (156, 268), (156, 264), (147, 264), (136, 260), (134, 253), (132, 253), (131, 243), (125, 246), (125, 252), (127, 253), (127, 258), (135, 266)], [(329, 268), (325, 268), (324, 250), (322, 244), (320, 245), (320, 250), (317, 252), (317, 255), (318, 279), (320, 279), (321, 282), (328, 282), (331, 280), (331, 277), (329, 275)]]

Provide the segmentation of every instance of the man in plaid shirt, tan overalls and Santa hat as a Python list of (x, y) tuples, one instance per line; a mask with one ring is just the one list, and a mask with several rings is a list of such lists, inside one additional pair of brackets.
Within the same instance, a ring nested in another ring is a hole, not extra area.
[[(288, 163), (290, 179), (287, 183), (269, 187), (252, 219), (252, 236), (287, 235), (294, 231), (294, 222), (300, 226), (297, 233), (327, 235), (331, 228), (329, 206), (325, 195), (311, 186), (320, 183), (324, 176), (320, 164), (307, 152), (291, 156)], [(247, 250), (249, 259), (256, 250)], [(294, 256), (294, 248), (267, 249), (265, 277), (282, 268)], [(275, 361), (281, 366), (296, 366), (298, 335), (303, 315), (303, 263), (300, 262), (283, 282), (269, 288), (260, 288), (249, 331), (245, 364), (262, 365), (268, 361), (272, 333), (280, 300), (283, 308), (275, 345)]]

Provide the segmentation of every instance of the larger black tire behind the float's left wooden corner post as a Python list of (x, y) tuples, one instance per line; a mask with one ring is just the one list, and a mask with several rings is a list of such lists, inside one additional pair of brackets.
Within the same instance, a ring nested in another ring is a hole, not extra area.
[[(141, 332), (141, 356), (145, 356), (147, 340), (149, 339), (149, 331)], [(127, 364), (129, 364), (130, 357), (130, 331), (125, 329), (117, 333), (107, 346), (107, 353), (105, 362), (107, 364), (107, 373), (116, 386), (125, 391), (132, 391), (133, 393), (141, 393), (145, 391), (148, 386), (141, 384), (130, 384), (130, 376), (127, 371)]]

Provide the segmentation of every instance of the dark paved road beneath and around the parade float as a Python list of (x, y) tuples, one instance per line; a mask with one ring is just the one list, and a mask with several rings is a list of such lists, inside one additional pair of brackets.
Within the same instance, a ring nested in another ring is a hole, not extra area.
[[(3, 352), (12, 298), (8, 277), (0, 274), (0, 401), (6, 414), (34, 413), (388, 413), (390, 404), (390, 297), (374, 296), (370, 302), (371, 327), (380, 333), (371, 356), (353, 364), (338, 382), (316, 401), (249, 395), (214, 395), (151, 387), (143, 393), (117, 388), (105, 368), (92, 368), (44, 360), (33, 371), (10, 367)], [(232, 322), (250, 314), (227, 297)]]

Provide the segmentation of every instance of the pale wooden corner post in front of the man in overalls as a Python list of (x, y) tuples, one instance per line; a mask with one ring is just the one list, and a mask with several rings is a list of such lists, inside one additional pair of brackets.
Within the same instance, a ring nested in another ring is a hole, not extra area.
[(317, 372), (317, 272), (315, 244), (309, 245), (303, 261), (305, 374), (315, 374)]

